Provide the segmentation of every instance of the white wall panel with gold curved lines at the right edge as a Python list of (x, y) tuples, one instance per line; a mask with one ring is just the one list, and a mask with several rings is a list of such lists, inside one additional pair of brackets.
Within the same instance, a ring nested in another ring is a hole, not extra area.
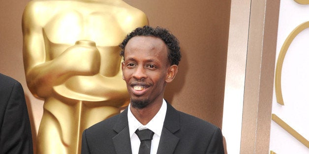
[[(308, 4), (309, 0), (303, 2)], [(290, 128), (286, 131), (282, 123), (272, 121), (269, 147), (277, 154), (309, 154), (309, 5), (307, 4), (299, 4), (296, 0), (280, 1), (276, 51), (278, 76), (275, 77), (277, 81), (280, 78), (280, 82), (274, 86), (274, 89), (277, 87), (273, 94), (272, 114), (278, 116)], [(278, 72), (281, 72), (281, 76)], [(279, 83), (283, 101), (279, 99)], [(292, 129), (298, 135), (293, 133)]]

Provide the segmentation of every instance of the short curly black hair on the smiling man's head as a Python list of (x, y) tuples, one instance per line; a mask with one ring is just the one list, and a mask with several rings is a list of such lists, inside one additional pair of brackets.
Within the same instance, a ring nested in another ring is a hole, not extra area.
[(178, 65), (181, 59), (180, 47), (178, 39), (167, 29), (162, 27), (153, 28), (151, 26), (143, 26), (134, 29), (131, 33), (127, 34), (124, 41), (119, 44), (121, 48), (120, 55), (124, 58), (124, 48), (129, 40), (134, 36), (154, 36), (160, 38), (165, 42), (168, 47), (168, 60), (171, 65)]

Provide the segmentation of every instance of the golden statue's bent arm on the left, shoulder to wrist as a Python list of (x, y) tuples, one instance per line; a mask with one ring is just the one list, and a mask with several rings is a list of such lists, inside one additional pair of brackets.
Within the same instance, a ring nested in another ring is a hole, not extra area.
[(43, 27), (48, 22), (51, 12), (37, 12), (43, 8), (31, 1), (26, 6), (22, 19), (27, 85), (31, 93), (40, 98), (52, 95), (53, 86), (63, 83), (69, 77), (97, 74), (100, 56), (98, 51), (68, 48), (58, 57), (48, 59)]

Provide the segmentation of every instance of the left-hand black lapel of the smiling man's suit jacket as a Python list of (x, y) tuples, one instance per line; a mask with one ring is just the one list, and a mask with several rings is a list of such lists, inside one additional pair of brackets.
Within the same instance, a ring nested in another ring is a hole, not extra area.
[(117, 154), (132, 154), (129, 128), (127, 122), (127, 108), (120, 113), (113, 129), (118, 133), (113, 137), (113, 143)]

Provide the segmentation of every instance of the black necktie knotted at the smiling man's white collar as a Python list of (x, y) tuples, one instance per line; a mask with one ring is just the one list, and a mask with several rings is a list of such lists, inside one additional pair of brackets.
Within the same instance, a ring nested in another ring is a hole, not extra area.
[(141, 141), (138, 154), (150, 154), (151, 140), (155, 133), (150, 129), (136, 129), (135, 133)]

